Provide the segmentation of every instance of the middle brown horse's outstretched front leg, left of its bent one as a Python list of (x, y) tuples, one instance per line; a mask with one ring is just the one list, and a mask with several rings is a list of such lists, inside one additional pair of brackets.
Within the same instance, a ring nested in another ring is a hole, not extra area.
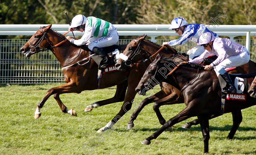
[(139, 115), (140, 111), (144, 108), (144, 106), (148, 105), (149, 103), (155, 102), (155, 101), (157, 101), (159, 99), (162, 99), (165, 96), (166, 96), (166, 94), (161, 90), (161, 91), (155, 93), (154, 95), (145, 98), (140, 103), (138, 108), (131, 115), (131, 118), (130, 118), (130, 120), (128, 122), (128, 125), (127, 125), (126, 129), (129, 130), (129, 129), (131, 129), (134, 126), (133, 121), (136, 120), (137, 116)]

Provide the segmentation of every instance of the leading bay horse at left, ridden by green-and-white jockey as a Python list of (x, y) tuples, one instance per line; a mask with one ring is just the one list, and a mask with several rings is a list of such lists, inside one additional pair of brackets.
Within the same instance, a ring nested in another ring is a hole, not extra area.
[[(47, 91), (43, 99), (37, 104), (37, 109), (34, 114), (35, 119), (38, 119), (41, 116), (40, 110), (51, 95), (54, 95), (54, 99), (59, 104), (62, 112), (76, 116), (76, 111), (73, 109), (69, 110), (62, 103), (59, 95), (63, 93), (81, 93), (84, 90), (94, 90), (97, 85), (98, 65), (94, 60), (91, 59), (87, 62), (82, 62), (83, 65), (77, 64), (77, 62), (84, 58), (90, 58), (87, 46), (76, 46), (69, 41), (66, 41), (66, 38), (60, 33), (53, 31), (51, 26), (52, 25), (48, 25), (40, 28), (20, 49), (27, 57), (30, 57), (39, 51), (49, 49), (63, 67), (62, 71), (64, 73), (66, 84), (51, 88)], [(59, 44), (61, 42), (63, 43)], [(159, 49), (159, 47), (152, 44), (150, 49)], [(168, 50), (165, 50), (165, 53), (165, 56), (173, 55), (173, 53)], [(146, 57), (148, 57), (148, 54), (144, 55), (144, 58)], [(102, 127), (97, 132), (111, 128), (127, 111), (131, 109), (132, 100), (137, 93), (135, 88), (140, 81), (140, 77), (142, 77), (145, 72), (145, 66), (148, 66), (150, 63), (151, 61), (147, 61), (146, 63), (137, 63), (126, 71), (102, 74), (100, 89), (116, 85), (115, 96), (87, 106), (86, 111), (91, 111), (93, 108), (110, 103), (124, 102), (119, 113), (109, 123), (107, 123), (106, 126)]]

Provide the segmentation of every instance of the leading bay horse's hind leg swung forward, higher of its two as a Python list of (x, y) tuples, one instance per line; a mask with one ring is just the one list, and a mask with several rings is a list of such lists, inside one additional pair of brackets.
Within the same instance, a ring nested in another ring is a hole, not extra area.
[(97, 101), (85, 108), (85, 112), (92, 111), (93, 108), (98, 108), (100, 106), (104, 106), (110, 103), (123, 102), (126, 94), (128, 83), (127, 80), (116, 85), (116, 93), (115, 96), (110, 99), (105, 99), (102, 101)]

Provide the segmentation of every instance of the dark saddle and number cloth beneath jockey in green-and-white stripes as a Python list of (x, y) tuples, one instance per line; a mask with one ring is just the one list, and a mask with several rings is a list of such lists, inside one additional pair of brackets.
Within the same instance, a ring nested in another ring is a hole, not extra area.
[[(108, 46), (108, 47), (103, 47), (101, 48), (103, 52), (105, 52), (110, 59), (112, 59), (113, 62), (117, 62), (117, 60), (119, 59), (119, 54), (123, 53), (121, 47), (117, 44), (112, 45), (112, 46)], [(92, 52), (91, 50), (89, 50), (90, 55), (93, 55), (94, 52)], [(96, 55), (94, 54), (93, 56), (91, 56), (91, 58), (98, 64), (100, 70), (103, 70), (103, 68), (101, 68), (101, 65), (107, 63), (107, 58), (104, 55)], [(110, 64), (113, 65), (113, 64)], [(110, 66), (108, 65), (108, 66)]]

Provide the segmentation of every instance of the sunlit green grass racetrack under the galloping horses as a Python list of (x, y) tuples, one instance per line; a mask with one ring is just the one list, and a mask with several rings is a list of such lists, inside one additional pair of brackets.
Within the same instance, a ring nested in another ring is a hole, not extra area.
[[(61, 95), (62, 102), (69, 109), (75, 109), (77, 116), (62, 113), (51, 96), (41, 109), (41, 117), (35, 120), (37, 103), (54, 86), (58, 84), (0, 87), (1, 155), (203, 154), (200, 126), (193, 126), (190, 130), (181, 128), (196, 117), (176, 124), (173, 132), (166, 130), (157, 139), (151, 140), (150, 145), (141, 144), (162, 126), (152, 109), (153, 103), (142, 110), (131, 130), (126, 130), (131, 115), (126, 113), (115, 129), (96, 133), (116, 116), (122, 103), (102, 106), (91, 112), (84, 112), (84, 109), (95, 101), (114, 96), (116, 87)], [(165, 120), (169, 120), (184, 107), (184, 104), (165, 105), (160, 107), (160, 111)], [(226, 139), (233, 122), (231, 113), (210, 120), (209, 154), (256, 154), (255, 106), (242, 110), (242, 114), (243, 121), (233, 140)]]

